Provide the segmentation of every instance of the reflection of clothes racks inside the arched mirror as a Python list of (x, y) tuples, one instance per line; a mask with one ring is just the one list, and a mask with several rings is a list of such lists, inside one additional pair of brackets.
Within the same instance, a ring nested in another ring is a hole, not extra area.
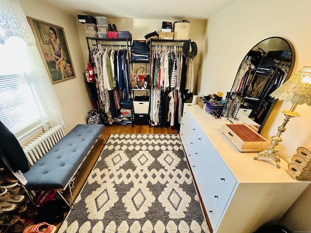
[(270, 37), (255, 45), (245, 55), (227, 93), (226, 117), (246, 118), (260, 133), (276, 104), (269, 95), (290, 78), (294, 60), (294, 48), (284, 38)]

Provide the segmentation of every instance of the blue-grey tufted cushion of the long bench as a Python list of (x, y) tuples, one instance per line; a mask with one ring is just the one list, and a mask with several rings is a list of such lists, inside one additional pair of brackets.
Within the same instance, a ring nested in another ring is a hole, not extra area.
[(63, 189), (94, 146), (104, 125), (77, 125), (24, 173), (28, 190)]

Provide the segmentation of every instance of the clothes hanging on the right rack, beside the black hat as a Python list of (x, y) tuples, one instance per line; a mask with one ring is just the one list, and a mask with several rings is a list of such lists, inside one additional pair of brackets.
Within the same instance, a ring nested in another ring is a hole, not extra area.
[(152, 46), (151, 52), (151, 125), (179, 129), (185, 97), (194, 88), (193, 60), (176, 46)]

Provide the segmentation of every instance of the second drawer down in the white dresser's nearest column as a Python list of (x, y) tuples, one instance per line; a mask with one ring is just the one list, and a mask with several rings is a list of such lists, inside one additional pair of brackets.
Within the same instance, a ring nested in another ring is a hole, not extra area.
[(201, 176), (203, 177), (203, 186), (201, 187), (204, 187), (208, 190), (210, 197), (217, 208), (218, 214), (222, 215), (227, 204), (227, 199), (225, 198), (222, 189), (217, 183), (216, 178), (203, 155), (203, 152), (198, 147), (195, 149), (195, 156), (195, 168), (198, 169), (198, 173), (202, 174)]

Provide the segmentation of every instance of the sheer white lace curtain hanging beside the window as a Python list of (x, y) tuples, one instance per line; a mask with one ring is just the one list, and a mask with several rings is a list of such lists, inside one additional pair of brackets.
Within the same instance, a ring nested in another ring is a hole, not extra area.
[[(44, 109), (45, 116), (42, 115), (41, 118), (44, 130), (57, 124), (61, 124), (65, 128), (66, 122), (62, 109), (52, 88), (42, 58), (35, 46), (34, 34), (19, 4), (19, 0), (0, 0), (0, 43), (4, 44), (11, 36), (17, 36), (27, 44), (27, 51), (31, 61), (31, 71), (28, 73), (27, 78), (29, 83), (34, 84), (41, 107)], [(15, 65), (18, 66), (18, 64)]]

